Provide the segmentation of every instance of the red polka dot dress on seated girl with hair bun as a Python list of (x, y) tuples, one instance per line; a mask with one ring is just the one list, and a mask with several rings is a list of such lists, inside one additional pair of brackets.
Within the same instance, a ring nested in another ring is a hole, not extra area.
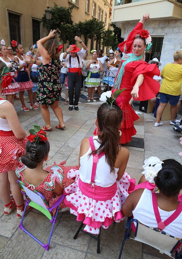
[[(47, 167), (45, 170), (47, 171), (47, 176), (46, 178), (40, 182), (37, 186), (35, 186), (35, 190), (39, 191), (46, 199), (47, 203), (49, 204), (49, 207), (53, 206), (54, 203), (62, 196), (62, 195), (57, 195), (54, 192), (55, 189), (55, 182), (58, 182), (59, 184), (63, 182), (64, 188), (69, 186), (71, 183), (74, 182), (74, 178), (68, 179), (67, 178), (67, 173), (70, 169), (78, 169), (78, 166), (73, 166), (73, 167), (67, 167), (63, 166), (66, 161), (61, 162), (59, 165), (51, 165)], [(22, 164), (22, 167), (16, 169), (16, 175), (18, 177), (21, 176), (22, 182), (24, 184), (30, 185), (31, 183), (26, 182), (24, 178), (24, 169), (26, 168), (25, 165)], [(64, 176), (64, 177), (63, 177)], [(64, 200), (60, 204), (60, 210), (63, 208), (66, 208), (67, 206), (64, 204)], [(60, 212), (59, 210), (59, 212)], [(55, 215), (56, 208), (53, 210), (53, 215)]]

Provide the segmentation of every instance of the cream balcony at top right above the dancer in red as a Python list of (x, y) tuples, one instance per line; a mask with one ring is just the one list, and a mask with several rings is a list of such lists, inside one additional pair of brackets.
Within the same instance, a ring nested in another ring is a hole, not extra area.
[(150, 20), (182, 19), (181, 0), (114, 0), (111, 21), (119, 28), (122, 22), (137, 22), (146, 12)]

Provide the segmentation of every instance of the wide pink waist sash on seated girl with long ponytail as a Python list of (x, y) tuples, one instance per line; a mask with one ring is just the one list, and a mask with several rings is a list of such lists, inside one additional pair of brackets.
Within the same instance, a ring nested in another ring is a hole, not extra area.
[(101, 187), (97, 185), (87, 184), (85, 182), (82, 182), (81, 179), (78, 181), (79, 188), (81, 192), (91, 198), (95, 199), (97, 201), (107, 201), (110, 200), (117, 191), (117, 184), (116, 182), (111, 185), (110, 187)]

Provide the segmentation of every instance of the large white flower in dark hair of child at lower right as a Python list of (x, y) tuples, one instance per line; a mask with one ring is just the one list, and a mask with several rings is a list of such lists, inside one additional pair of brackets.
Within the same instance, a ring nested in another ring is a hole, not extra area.
[(154, 183), (154, 177), (156, 177), (158, 172), (162, 169), (163, 163), (164, 162), (160, 161), (158, 157), (149, 157), (149, 159), (146, 159), (142, 166), (144, 169), (142, 174), (145, 175), (145, 179)]

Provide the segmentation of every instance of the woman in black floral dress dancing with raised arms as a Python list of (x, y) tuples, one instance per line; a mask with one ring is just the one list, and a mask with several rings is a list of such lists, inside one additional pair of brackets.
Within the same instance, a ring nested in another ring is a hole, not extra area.
[[(53, 38), (55, 30), (51, 30), (49, 35), (37, 41), (37, 48), (43, 58), (39, 68), (39, 86), (37, 90), (37, 102), (40, 104), (42, 117), (45, 121), (43, 130), (50, 131), (52, 129), (49, 114), (49, 105), (59, 121), (57, 129), (64, 129), (63, 113), (58, 102), (61, 96), (62, 84), (60, 81), (61, 61), (59, 52), (61, 46), (58, 41)], [(43, 44), (47, 42), (44, 48)]]

